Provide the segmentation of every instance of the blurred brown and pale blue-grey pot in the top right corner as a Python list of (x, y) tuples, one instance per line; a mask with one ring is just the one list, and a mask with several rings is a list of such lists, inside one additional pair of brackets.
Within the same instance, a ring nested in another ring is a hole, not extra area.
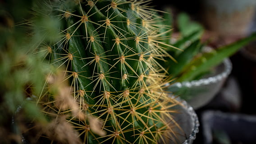
[(202, 0), (202, 21), (221, 37), (248, 33), (256, 11), (256, 0)]

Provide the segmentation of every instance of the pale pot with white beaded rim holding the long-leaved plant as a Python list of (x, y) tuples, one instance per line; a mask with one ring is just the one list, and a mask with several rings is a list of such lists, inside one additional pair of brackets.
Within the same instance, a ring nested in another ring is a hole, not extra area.
[(226, 81), (232, 70), (232, 63), (226, 58), (223, 63), (215, 67), (211, 75), (199, 80), (176, 82), (168, 84), (167, 91), (186, 100), (194, 109), (201, 108), (210, 102)]

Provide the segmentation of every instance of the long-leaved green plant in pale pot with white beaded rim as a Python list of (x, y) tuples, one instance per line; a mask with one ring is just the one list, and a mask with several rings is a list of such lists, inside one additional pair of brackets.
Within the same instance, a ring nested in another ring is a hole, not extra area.
[[(168, 14), (165, 17), (171, 18)], [(201, 40), (204, 28), (191, 21), (187, 14), (178, 15), (177, 25), (179, 38), (175, 41), (165, 39), (166, 43), (178, 48), (168, 49), (173, 59), (167, 60), (165, 67), (174, 81), (166, 86), (167, 90), (180, 95), (197, 109), (208, 103), (224, 84), (232, 69), (229, 56), (255, 40), (256, 35), (219, 48), (209, 48), (207, 42)], [(170, 35), (168, 33), (165, 37)]]

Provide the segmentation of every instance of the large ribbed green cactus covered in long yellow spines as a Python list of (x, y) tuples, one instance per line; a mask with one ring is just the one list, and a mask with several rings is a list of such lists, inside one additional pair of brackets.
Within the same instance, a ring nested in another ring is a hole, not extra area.
[(48, 76), (38, 95), (49, 119), (65, 115), (86, 144), (178, 142), (172, 112), (179, 103), (163, 91), (168, 77), (156, 60), (170, 57), (160, 45), (172, 46), (159, 41), (157, 11), (144, 0), (55, 2), (43, 17), (59, 18), (60, 38), (36, 49), (64, 73)]

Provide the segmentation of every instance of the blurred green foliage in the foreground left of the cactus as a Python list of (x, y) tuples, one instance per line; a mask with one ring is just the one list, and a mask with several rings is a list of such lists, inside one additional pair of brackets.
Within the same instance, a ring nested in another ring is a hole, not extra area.
[[(21, 143), (26, 126), (24, 121), (47, 122), (33, 101), (33, 93), (40, 93), (51, 66), (43, 63), (42, 55), (32, 49), (41, 47), (43, 39), (40, 23), (32, 26), (35, 0), (0, 1), (0, 143)], [(37, 15), (37, 19), (42, 16)], [(37, 20), (38, 21), (38, 20)], [(55, 22), (54, 18), (47, 23)], [(49, 27), (49, 31), (54, 29)], [(32, 32), (33, 31), (33, 32)], [(50, 35), (55, 35), (51, 31)], [(44, 33), (47, 33), (44, 32)], [(50, 39), (50, 35), (48, 36)]]

